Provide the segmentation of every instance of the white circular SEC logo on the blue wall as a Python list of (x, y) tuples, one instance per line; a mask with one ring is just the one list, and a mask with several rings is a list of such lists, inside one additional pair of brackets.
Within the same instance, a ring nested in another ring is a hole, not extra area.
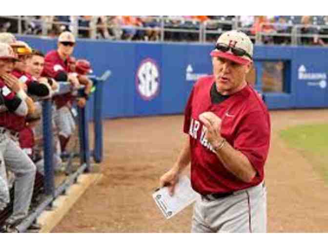
[(141, 61), (136, 73), (136, 87), (143, 100), (150, 101), (160, 91), (160, 70), (153, 59)]

